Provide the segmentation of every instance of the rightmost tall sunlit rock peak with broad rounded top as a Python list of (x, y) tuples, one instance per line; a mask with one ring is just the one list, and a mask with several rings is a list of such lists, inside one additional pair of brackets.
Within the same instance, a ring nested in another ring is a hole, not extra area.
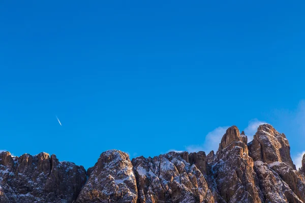
[(290, 157), (290, 145), (284, 133), (279, 133), (270, 124), (260, 125), (248, 147), (249, 154), (255, 161), (254, 171), (263, 201), (305, 200), (304, 177), (295, 170)]

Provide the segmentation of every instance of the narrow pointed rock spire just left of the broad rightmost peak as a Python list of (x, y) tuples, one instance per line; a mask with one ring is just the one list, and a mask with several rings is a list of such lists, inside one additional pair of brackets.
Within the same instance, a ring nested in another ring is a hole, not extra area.
[(212, 165), (213, 178), (226, 202), (261, 202), (248, 147), (236, 126), (227, 129)]

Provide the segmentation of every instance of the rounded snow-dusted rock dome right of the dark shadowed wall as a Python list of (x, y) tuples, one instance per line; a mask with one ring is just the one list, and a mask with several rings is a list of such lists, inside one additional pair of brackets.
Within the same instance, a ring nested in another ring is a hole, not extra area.
[(128, 154), (106, 151), (90, 171), (76, 202), (137, 202), (136, 178)]

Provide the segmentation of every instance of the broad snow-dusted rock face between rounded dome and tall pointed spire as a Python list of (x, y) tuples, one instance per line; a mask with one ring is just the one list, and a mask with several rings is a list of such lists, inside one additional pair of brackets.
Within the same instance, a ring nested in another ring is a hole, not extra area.
[[(190, 161), (192, 163), (190, 163)], [(176, 153), (132, 160), (137, 179), (138, 201), (144, 202), (215, 202), (204, 174), (204, 152)]]

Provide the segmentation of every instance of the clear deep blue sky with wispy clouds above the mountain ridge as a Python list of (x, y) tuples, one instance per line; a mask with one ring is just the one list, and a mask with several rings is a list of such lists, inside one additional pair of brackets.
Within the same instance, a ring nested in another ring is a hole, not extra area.
[(2, 1), (0, 149), (87, 168), (109, 149), (207, 151), (225, 126), (250, 134), (268, 122), (297, 156), (304, 6)]

